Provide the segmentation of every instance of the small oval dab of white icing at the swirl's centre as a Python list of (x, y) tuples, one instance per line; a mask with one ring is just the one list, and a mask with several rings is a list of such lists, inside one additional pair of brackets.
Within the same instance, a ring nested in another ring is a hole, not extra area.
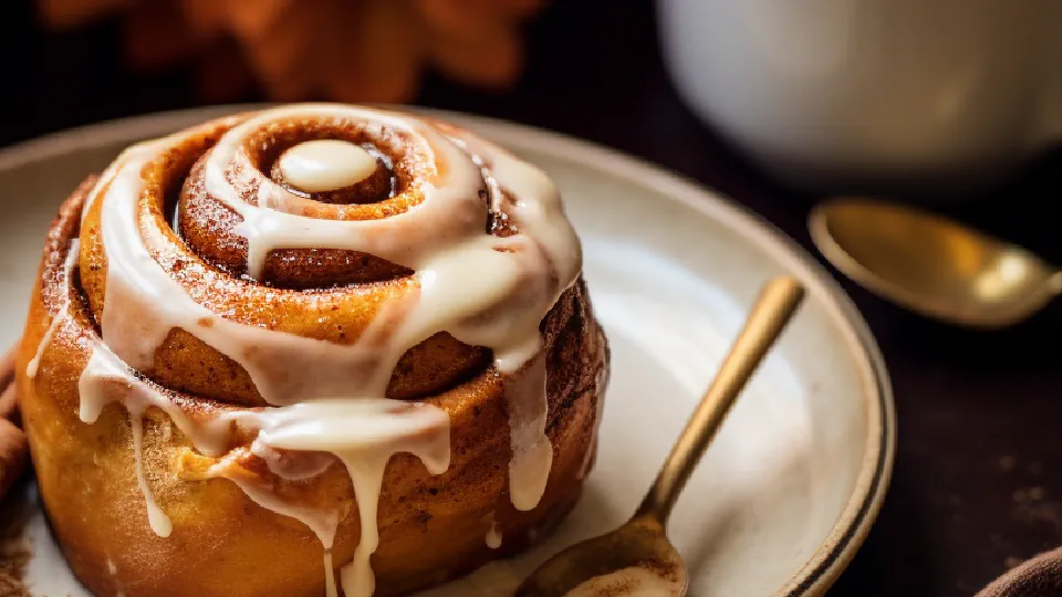
[(339, 190), (365, 180), (376, 170), (376, 158), (340, 139), (315, 139), (280, 156), (280, 171), (292, 187), (305, 192)]

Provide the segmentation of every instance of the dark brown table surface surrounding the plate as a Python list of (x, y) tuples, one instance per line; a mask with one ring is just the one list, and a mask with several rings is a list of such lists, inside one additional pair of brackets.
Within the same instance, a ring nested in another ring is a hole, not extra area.
[[(529, 31), (528, 70), (510, 93), (429, 76), (417, 103), (620, 148), (717, 189), (812, 247), (805, 218), (816, 197), (769, 180), (683, 106), (664, 71), (650, 2), (553, 1)], [(125, 73), (114, 23), (44, 34), (27, 2), (0, 11), (0, 43), (9, 44), (6, 55), (19, 56), (0, 94), (0, 144), (196, 104), (180, 73)], [(1054, 151), (1004, 188), (945, 211), (1062, 263), (1056, 223), (1047, 214), (1060, 196), (1062, 151)], [(1062, 312), (1049, 307), (1004, 332), (964, 332), (841, 282), (888, 364), (899, 442), (877, 524), (830, 594), (970, 595), (1062, 543), (1062, 475), (1053, 474), (1052, 459), (1062, 452), (1062, 352), (1050, 342)]]

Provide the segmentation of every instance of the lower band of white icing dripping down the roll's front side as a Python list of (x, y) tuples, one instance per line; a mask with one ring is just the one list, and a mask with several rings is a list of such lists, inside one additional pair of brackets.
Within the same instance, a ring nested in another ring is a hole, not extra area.
[[(115, 385), (122, 391), (116, 392)], [(369, 557), (379, 543), (376, 510), (384, 471), (391, 457), (409, 452), (425, 463), (430, 474), (441, 474), (449, 467), (449, 417), (442, 410), (421, 402), (371, 398), (320, 400), (279, 408), (235, 410), (212, 421), (194, 422), (165, 396), (137, 379), (103, 345), (93, 348), (88, 365), (81, 376), (80, 392), (80, 417), (87, 423), (95, 422), (104, 407), (112, 401), (122, 402), (128, 410), (137, 484), (144, 494), (152, 530), (160, 537), (170, 535), (173, 524), (144, 478), (143, 418), (148, 407), (166, 411), (191, 439), (196, 449), (205, 453), (217, 454), (221, 451), (221, 447), (231, 438), (232, 427), (229, 423), (235, 421), (244, 430), (258, 431), (251, 452), (267, 463), (274, 460), (275, 450), (335, 454), (351, 476), (362, 530), (354, 559), (341, 569), (343, 591), (347, 597), (368, 597), (374, 590)], [(326, 583), (333, 587), (329, 595), (334, 596), (331, 548), (340, 513), (292, 505), (268, 490), (230, 475), (231, 461), (238, 455), (237, 452), (230, 453), (211, 467), (207, 475), (232, 481), (257, 504), (298, 520), (313, 531), (325, 549)], [(273, 465), (270, 468), (278, 472)], [(314, 462), (306, 471), (284, 471), (282, 476), (298, 480), (320, 474), (323, 470), (320, 462)]]

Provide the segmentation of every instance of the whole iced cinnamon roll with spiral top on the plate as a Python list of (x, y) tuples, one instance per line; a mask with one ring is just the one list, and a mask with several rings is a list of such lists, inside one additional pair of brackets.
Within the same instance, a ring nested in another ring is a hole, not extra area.
[(579, 240), (460, 128), (299, 104), (134, 145), (40, 274), (22, 417), (96, 595), (406, 595), (543, 536), (593, 465)]

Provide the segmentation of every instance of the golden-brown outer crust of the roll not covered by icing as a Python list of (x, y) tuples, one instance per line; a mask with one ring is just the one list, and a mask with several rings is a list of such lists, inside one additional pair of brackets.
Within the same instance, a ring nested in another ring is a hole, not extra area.
[[(218, 126), (222, 125), (202, 127), (200, 150), (209, 146)], [(170, 172), (190, 171), (192, 161), (191, 156), (166, 156), (148, 165), (146, 176), (155, 177), (165, 192), (174, 184), (167, 179), (174, 176)], [(212, 478), (209, 469), (219, 459), (198, 452), (164, 412), (147, 410), (144, 468), (152, 492), (174, 523), (166, 538), (148, 525), (123, 406), (108, 405), (93, 425), (79, 417), (77, 383), (92, 346), (100, 342), (97, 322), (106, 292), (98, 206), (88, 210), (81, 229), (90, 188), (83, 185), (63, 205), (49, 233), (18, 356), (22, 413), (41, 495), (74, 573), (101, 596), (323, 595), (323, 547), (317, 537), (302, 523), (260, 506), (232, 481)], [(329, 207), (354, 213), (361, 208), (378, 209), (379, 203), (372, 206)], [(188, 250), (185, 241), (190, 239), (179, 239), (157, 206), (142, 201), (137, 217), (142, 229), (156, 227), (168, 243), (152, 248), (159, 264), (197, 302), (242, 323), (351, 343), (379, 314), (381, 304), (398, 302), (415, 290), (407, 275), (309, 293), (257, 284)], [(39, 373), (31, 379), (24, 375), (25, 367), (60, 310), (66, 292), (63, 263), (71, 241), (79, 237), (81, 260), (69, 316), (44, 345)], [(204, 281), (214, 275), (211, 280), (225, 287), (207, 293)], [(269, 310), (254, 308), (267, 292), (279, 298), (271, 300)], [(322, 310), (333, 325), (320, 325)], [(405, 595), (517, 553), (574, 505), (593, 464), (607, 368), (607, 346), (582, 280), (562, 294), (542, 328), (553, 467), (545, 494), (529, 512), (517, 511), (508, 494), (508, 376), (488, 366), (489, 352), (438, 334), (399, 362), (388, 395), (415, 397), (445, 410), (450, 417), (451, 458), (448, 470), (437, 476), (413, 455), (392, 459), (379, 496), (381, 544), (372, 558), (376, 595)], [(239, 365), (179, 329), (156, 352), (154, 368), (142, 373), (192, 418), (264, 406)], [(336, 566), (348, 562), (360, 525), (343, 467), (333, 458), (316, 478), (282, 480), (247, 451), (249, 439), (237, 436), (229, 447), (235, 474), (242, 482), (306, 506), (345, 504), (332, 553)], [(491, 519), (503, 535), (497, 551), (486, 542)], [(430, 545), (446, 548), (425, 548)]]

